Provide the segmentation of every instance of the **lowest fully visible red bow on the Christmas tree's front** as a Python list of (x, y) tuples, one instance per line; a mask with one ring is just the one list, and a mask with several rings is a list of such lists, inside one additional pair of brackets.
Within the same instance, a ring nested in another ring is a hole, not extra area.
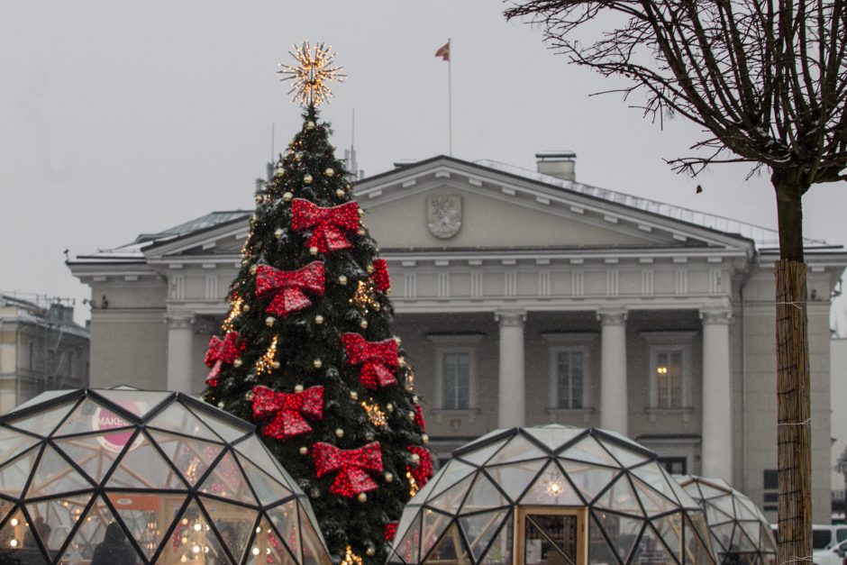
[(317, 442), (312, 447), (314, 469), (318, 478), (339, 471), (332, 481), (330, 492), (342, 497), (353, 497), (375, 490), (377, 483), (366, 470), (382, 472), (382, 451), (379, 442), (370, 442), (356, 450), (341, 450), (329, 443)]

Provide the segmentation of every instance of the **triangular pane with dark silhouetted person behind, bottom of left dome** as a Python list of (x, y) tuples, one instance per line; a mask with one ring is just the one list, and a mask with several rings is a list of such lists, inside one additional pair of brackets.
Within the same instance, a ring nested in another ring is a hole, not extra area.
[[(99, 559), (109, 563), (132, 563), (141, 560), (141, 556), (132, 546), (129, 536), (115, 518), (109, 506), (97, 497), (87, 514), (75, 518), (78, 528), (59, 563), (88, 562), (94, 558), (95, 551)], [(103, 543), (108, 532), (108, 543)], [(98, 549), (105, 546), (104, 549)]]

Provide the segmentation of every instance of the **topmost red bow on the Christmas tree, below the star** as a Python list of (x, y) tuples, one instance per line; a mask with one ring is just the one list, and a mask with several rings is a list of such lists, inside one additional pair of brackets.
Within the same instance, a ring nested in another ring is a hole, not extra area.
[(359, 205), (355, 202), (322, 208), (303, 198), (295, 198), (291, 213), (294, 215), (291, 228), (296, 232), (312, 228), (312, 237), (305, 244), (322, 253), (352, 247), (344, 232), (359, 229)]

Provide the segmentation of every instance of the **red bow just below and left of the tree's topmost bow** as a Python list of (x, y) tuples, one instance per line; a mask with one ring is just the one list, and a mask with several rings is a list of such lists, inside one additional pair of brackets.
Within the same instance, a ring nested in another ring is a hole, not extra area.
[(285, 317), (312, 305), (304, 291), (323, 296), (325, 282), (321, 261), (313, 261), (299, 270), (279, 270), (270, 265), (260, 265), (256, 269), (256, 296), (264, 298), (276, 293), (265, 312)]

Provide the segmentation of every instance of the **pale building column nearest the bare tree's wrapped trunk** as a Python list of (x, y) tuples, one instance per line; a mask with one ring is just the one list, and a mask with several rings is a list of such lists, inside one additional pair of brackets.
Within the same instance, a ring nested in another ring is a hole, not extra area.
[(733, 484), (733, 394), (729, 366), (730, 312), (700, 312), (703, 320), (703, 443), (701, 475)]

